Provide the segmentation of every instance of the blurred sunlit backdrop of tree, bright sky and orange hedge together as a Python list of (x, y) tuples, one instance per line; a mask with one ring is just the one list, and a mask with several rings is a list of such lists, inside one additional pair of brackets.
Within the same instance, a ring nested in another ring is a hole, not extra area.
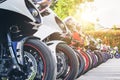
[(51, 5), (63, 20), (72, 16), (82, 32), (120, 50), (120, 0), (58, 0)]

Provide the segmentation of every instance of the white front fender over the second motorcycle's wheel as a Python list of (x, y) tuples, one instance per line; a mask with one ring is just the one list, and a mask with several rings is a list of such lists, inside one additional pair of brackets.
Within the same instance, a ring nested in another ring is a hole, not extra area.
[(54, 56), (56, 63), (57, 63), (56, 48), (57, 48), (57, 45), (60, 43), (65, 43), (65, 42), (60, 40), (52, 40), (52, 41), (46, 42), (47, 46), (52, 51), (52, 55)]

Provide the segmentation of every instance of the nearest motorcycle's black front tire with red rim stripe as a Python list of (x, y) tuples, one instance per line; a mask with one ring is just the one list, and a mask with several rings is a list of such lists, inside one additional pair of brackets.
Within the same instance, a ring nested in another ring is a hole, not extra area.
[(39, 40), (30, 39), (24, 44), (24, 51), (37, 61), (37, 75), (34, 80), (56, 80), (56, 62), (48, 47)]

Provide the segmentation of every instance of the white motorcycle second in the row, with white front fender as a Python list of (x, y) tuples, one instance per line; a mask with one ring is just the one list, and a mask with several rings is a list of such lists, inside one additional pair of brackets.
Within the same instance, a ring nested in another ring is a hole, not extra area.
[(79, 62), (74, 50), (61, 40), (61, 34), (67, 31), (65, 24), (50, 8), (41, 15), (43, 25), (34, 36), (45, 42), (56, 57), (57, 79), (74, 80), (78, 73)]

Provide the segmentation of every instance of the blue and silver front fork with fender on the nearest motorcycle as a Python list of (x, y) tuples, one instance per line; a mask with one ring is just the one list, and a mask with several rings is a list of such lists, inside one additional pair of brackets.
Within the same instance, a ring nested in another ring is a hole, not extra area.
[(17, 68), (17, 69), (21, 70), (20, 65), (24, 65), (24, 57), (23, 57), (24, 43), (29, 39), (39, 39), (39, 38), (34, 37), (34, 36), (29, 36), (29, 37), (23, 38), (20, 41), (13, 42), (11, 40), (10, 34), (8, 33), (7, 39), (8, 39), (8, 47), (9, 47), (10, 55), (12, 57), (12, 61), (13, 61), (13, 65), (14, 65), (13, 68)]

